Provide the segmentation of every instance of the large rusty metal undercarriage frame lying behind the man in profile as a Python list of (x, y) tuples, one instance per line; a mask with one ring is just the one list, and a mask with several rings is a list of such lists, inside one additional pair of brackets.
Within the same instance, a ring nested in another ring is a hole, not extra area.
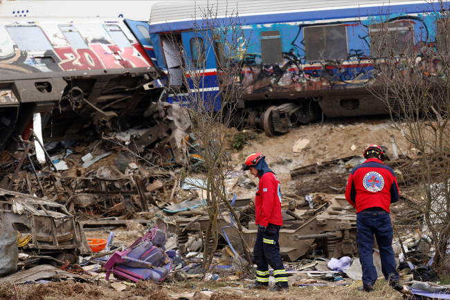
[[(249, 202), (249, 201), (248, 201)], [(249, 203), (251, 205), (251, 203)], [(356, 243), (357, 214), (343, 196), (336, 196), (330, 201), (315, 203), (314, 209), (296, 209), (291, 205), (283, 212), (285, 228), (280, 229), (280, 254), (285, 261), (296, 261), (316, 249), (322, 249), (325, 257), (358, 256)], [(240, 205), (235, 210), (239, 214), (247, 205)], [(201, 218), (179, 218), (175, 220), (174, 232), (177, 234), (177, 247), (181, 253), (196, 251), (208, 228), (208, 216)], [(224, 214), (219, 219), (222, 236), (229, 240), (233, 252), (242, 255), (242, 243), (233, 227), (233, 217)], [(231, 226), (230, 226), (231, 225)], [(169, 227), (170, 228), (170, 227)], [(242, 235), (249, 249), (253, 251), (258, 228), (250, 223)], [(227, 241), (224, 241), (227, 243)]]

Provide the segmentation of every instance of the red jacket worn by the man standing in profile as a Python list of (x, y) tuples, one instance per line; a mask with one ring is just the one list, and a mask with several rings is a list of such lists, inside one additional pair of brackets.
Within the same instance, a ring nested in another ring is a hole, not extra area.
[(283, 220), (281, 216), (280, 180), (271, 172), (258, 177), (260, 178), (260, 184), (255, 197), (255, 224), (267, 227), (271, 223), (281, 226)]

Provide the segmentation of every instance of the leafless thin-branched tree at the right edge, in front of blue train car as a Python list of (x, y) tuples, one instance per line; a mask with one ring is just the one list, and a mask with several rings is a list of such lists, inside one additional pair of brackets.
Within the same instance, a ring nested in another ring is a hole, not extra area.
[(424, 216), (422, 233), (433, 240), (433, 266), (439, 268), (450, 238), (450, 15), (447, 1), (436, 3), (439, 11), (429, 3), (432, 11), (414, 19), (407, 12), (391, 18), (381, 10), (360, 21), (370, 37), (366, 53), (373, 66), (366, 70), (366, 87), (420, 153), (402, 171), (415, 187), (410, 207)]

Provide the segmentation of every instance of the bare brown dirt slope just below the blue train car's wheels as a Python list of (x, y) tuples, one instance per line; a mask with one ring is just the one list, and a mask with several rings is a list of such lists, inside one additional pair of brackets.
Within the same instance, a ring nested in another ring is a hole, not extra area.
[[(232, 162), (240, 170), (246, 156), (259, 151), (266, 156), (266, 162), (277, 174), (282, 188), (294, 192), (296, 182), (291, 180), (292, 169), (352, 155), (362, 156), (370, 144), (383, 145), (392, 153), (390, 135), (395, 136), (399, 153), (411, 155), (412, 146), (393, 127), (390, 118), (375, 116), (312, 122), (272, 138), (261, 131), (242, 151), (232, 154)], [(294, 153), (292, 147), (303, 139), (309, 140), (309, 144), (300, 153)], [(356, 147), (354, 151), (350, 149), (352, 145)], [(230, 150), (233, 151), (231, 147)]]

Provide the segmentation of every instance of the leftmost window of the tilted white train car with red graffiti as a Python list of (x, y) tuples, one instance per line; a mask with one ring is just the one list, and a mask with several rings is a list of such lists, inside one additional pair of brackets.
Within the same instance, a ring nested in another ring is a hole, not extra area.
[(6, 30), (22, 51), (53, 50), (39, 26), (6, 26)]

